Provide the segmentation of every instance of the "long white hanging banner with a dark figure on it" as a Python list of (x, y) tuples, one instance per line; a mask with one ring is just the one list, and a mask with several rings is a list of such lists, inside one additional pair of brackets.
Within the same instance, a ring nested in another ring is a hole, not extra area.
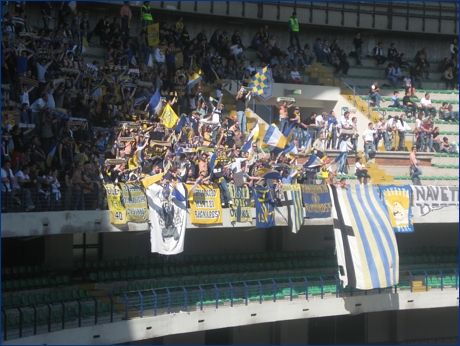
[[(182, 196), (186, 196), (182, 183), (178, 183), (176, 189)], [(162, 255), (176, 255), (184, 251), (187, 202), (163, 192), (163, 187), (157, 184), (146, 189), (151, 250)]]

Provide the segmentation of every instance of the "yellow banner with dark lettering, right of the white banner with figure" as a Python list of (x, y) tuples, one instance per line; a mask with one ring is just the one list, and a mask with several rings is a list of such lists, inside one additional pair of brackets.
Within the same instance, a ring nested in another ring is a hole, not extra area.
[[(186, 184), (188, 191), (193, 185)], [(190, 221), (193, 224), (215, 225), (222, 223), (220, 190), (217, 185), (198, 185), (190, 203)]]

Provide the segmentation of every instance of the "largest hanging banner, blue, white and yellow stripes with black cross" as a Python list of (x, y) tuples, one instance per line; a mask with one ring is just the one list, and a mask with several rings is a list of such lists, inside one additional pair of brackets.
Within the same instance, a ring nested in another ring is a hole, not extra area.
[(329, 186), (343, 286), (362, 290), (398, 284), (399, 254), (388, 213), (374, 186)]

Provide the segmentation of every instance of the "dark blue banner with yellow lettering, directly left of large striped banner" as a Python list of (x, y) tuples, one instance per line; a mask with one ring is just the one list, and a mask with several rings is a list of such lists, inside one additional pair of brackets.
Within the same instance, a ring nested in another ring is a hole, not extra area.
[(328, 185), (301, 185), (301, 187), (306, 217), (309, 219), (331, 217), (332, 204)]

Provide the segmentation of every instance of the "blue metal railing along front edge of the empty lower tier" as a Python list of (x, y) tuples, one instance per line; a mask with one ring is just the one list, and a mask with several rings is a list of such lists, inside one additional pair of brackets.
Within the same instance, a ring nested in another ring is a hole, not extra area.
[[(454, 273), (454, 274), (452, 274)], [(279, 300), (328, 299), (344, 296), (398, 293), (410, 289), (414, 281), (429, 284), (429, 276), (439, 275), (441, 291), (446, 286), (458, 290), (457, 269), (409, 270), (410, 285), (402, 282), (388, 288), (358, 290), (341, 288), (336, 275), (291, 277), (274, 274), (273, 277), (232, 282), (206, 282), (196, 285), (159, 287), (146, 290), (125, 290), (118, 297), (88, 297), (45, 302), (41, 305), (20, 305), (2, 308), (3, 340), (50, 333), (69, 328), (113, 323), (131, 318), (154, 317), (179, 312), (204, 311), (206, 309), (232, 308), (249, 304), (275, 303)], [(450, 281), (446, 283), (446, 276)], [(455, 276), (455, 280), (453, 277)], [(160, 282), (160, 281), (158, 281)], [(163, 281), (161, 281), (163, 282)], [(428, 291), (428, 285), (426, 285)]]

